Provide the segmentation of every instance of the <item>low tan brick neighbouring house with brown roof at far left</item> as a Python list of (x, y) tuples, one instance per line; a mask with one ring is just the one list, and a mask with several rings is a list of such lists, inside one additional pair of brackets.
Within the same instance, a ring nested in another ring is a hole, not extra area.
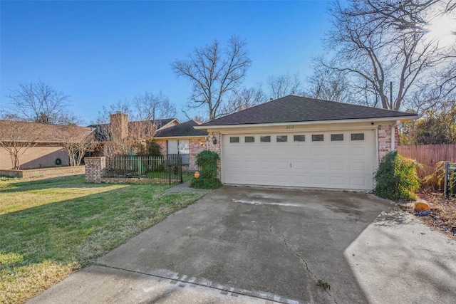
[(0, 120), (0, 169), (13, 169), (16, 149), (21, 169), (68, 166), (66, 143), (83, 140), (93, 128)]

